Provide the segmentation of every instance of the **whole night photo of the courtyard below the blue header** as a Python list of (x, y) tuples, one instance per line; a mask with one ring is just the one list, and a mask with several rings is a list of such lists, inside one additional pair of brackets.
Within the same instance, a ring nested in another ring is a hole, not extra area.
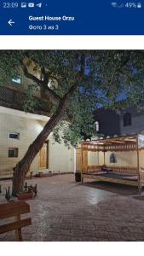
[(143, 55), (0, 50), (0, 241), (144, 241)]

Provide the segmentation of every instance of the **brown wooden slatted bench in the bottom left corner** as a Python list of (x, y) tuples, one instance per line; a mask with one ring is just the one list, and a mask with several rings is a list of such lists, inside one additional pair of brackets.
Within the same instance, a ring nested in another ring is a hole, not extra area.
[(14, 217), (14, 221), (0, 226), (0, 234), (15, 230), (17, 241), (22, 240), (21, 228), (32, 224), (32, 218), (20, 219), (21, 214), (30, 212), (30, 206), (25, 201), (10, 202), (0, 205), (0, 219)]

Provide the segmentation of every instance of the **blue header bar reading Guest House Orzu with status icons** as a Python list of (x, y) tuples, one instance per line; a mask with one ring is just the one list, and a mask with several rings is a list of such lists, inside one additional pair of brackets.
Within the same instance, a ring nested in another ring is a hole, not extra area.
[(0, 35), (144, 35), (144, 1), (0, 3)]

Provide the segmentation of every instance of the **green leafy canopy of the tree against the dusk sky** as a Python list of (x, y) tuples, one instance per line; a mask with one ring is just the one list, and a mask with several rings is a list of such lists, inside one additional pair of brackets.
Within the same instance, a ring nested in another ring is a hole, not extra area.
[[(44, 67), (49, 74), (48, 86), (61, 98), (73, 83), (78, 84), (66, 113), (55, 127), (54, 137), (58, 143), (62, 139), (66, 146), (76, 146), (83, 135), (95, 135), (94, 112), (100, 106), (116, 109), (135, 105), (140, 110), (143, 108), (144, 50), (1, 50), (1, 84), (7, 85), (9, 79), (21, 73), (24, 60), (29, 73), (38, 79), (42, 78)], [(79, 81), (83, 67), (84, 78)], [(24, 106), (25, 111), (33, 113), (41, 104), (33, 95), (42, 88), (40, 84), (35, 85), (27, 87)], [(49, 102), (50, 99), (48, 105)], [(49, 115), (58, 108), (58, 103), (51, 104)]]

